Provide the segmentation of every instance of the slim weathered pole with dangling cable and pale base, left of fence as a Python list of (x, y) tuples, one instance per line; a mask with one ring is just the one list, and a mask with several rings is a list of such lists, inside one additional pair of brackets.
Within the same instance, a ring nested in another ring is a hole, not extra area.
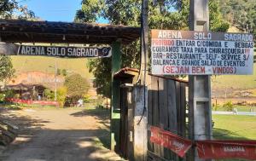
[(140, 84), (135, 84), (131, 92), (133, 98), (133, 159), (131, 160), (136, 161), (148, 160), (148, 0), (143, 0), (141, 15)]

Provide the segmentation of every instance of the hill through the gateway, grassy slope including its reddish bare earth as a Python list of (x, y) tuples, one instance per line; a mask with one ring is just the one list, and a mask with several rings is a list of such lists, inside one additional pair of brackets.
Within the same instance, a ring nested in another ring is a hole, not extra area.
[[(96, 89), (92, 86), (93, 74), (87, 68), (87, 59), (65, 59), (46, 56), (11, 56), (16, 70), (15, 78), (9, 84), (17, 83), (40, 83), (50, 89), (55, 88), (55, 60), (57, 68), (66, 69), (67, 74), (79, 73), (89, 79), (90, 89), (88, 95), (96, 97)], [(64, 82), (63, 77), (57, 77), (58, 87)]]

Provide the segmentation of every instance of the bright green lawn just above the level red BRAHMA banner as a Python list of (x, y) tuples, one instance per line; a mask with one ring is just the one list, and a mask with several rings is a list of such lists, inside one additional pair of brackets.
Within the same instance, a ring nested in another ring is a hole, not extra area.
[[(256, 116), (212, 115), (213, 137), (218, 140), (256, 140)], [(218, 161), (246, 159), (218, 159)]]

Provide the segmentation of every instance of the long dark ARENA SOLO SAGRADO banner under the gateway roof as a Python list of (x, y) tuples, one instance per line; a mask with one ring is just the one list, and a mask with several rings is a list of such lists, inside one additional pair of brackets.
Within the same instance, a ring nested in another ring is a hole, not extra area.
[(110, 57), (110, 47), (59, 47), (17, 45), (14, 43), (0, 43), (0, 55), (38, 55), (67, 58), (98, 58)]

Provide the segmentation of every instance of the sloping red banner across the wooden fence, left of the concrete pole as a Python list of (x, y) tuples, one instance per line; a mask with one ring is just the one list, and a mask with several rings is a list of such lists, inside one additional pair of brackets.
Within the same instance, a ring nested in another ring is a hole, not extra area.
[(177, 153), (179, 157), (183, 158), (192, 146), (192, 141), (186, 140), (179, 135), (172, 134), (169, 131), (165, 131), (154, 126), (151, 126), (150, 131), (151, 142), (172, 150), (172, 152)]

